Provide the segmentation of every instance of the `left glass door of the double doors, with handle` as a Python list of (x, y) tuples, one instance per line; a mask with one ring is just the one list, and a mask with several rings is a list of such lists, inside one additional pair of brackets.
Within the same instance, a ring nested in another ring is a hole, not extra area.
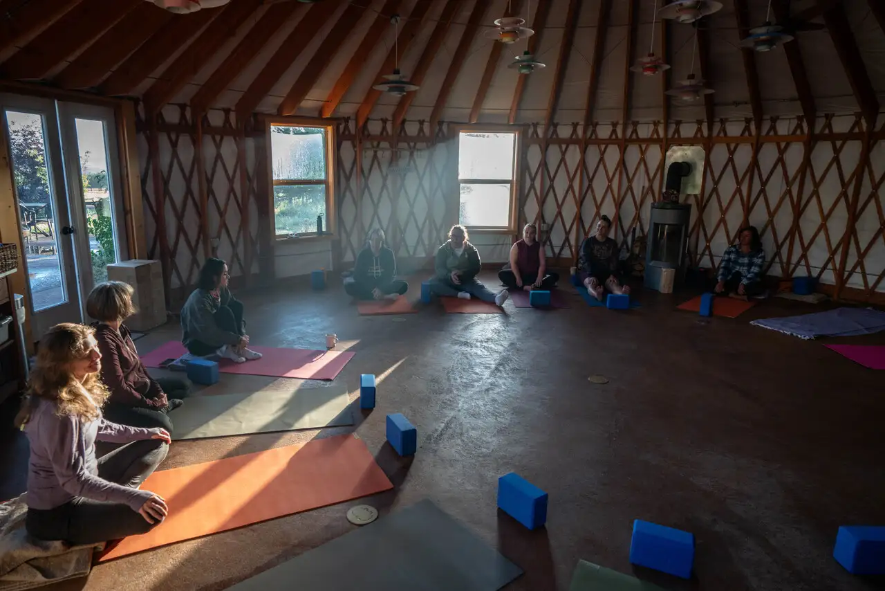
[(35, 338), (53, 324), (79, 322), (81, 299), (55, 102), (0, 94), (18, 203)]

